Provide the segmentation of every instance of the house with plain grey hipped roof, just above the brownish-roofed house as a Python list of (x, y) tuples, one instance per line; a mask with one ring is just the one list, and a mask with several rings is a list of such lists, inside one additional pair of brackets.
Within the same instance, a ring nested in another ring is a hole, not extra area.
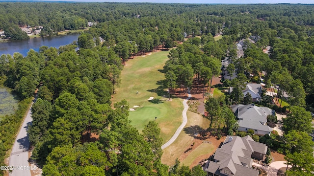
[(238, 131), (248, 132), (249, 129), (254, 131), (254, 134), (270, 134), (272, 128), (266, 125), (267, 115), (275, 115), (275, 111), (267, 107), (258, 107), (252, 105), (232, 105), (232, 111), (238, 119)]

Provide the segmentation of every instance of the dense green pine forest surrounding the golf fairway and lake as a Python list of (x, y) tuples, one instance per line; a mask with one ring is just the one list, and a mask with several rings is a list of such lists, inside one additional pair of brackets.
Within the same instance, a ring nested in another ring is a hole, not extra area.
[[(234, 87), (229, 98), (237, 104), (243, 101), (237, 89), (256, 76), (255, 81), (259, 81), (264, 71), (266, 86), (278, 85), (289, 95), (292, 113), (284, 121), (283, 148), (294, 165), (288, 174), (314, 170), (308, 164), (313, 163), (309, 162), (313, 161), (309, 155), (313, 143), (306, 137), (312, 132), (312, 118), (305, 111), (314, 110), (314, 5), (0, 2), (0, 19), (0, 29), (15, 39), (24, 38), (19, 26), (42, 25), (52, 33), (97, 23), (78, 37), (78, 43), (59, 49), (42, 46), (39, 52), (30, 50), (26, 57), (19, 53), (0, 57), (1, 79), (21, 99), (28, 100), (43, 85), (32, 108), (33, 125), (28, 131), (34, 146), (32, 159), (43, 166), (43, 176), (205, 174), (199, 166), (192, 170), (180, 167), (179, 161), (170, 169), (161, 164), (157, 124), (149, 123), (140, 133), (130, 125), (126, 101), (110, 107), (122, 61), (159, 45), (178, 46), (169, 52), (165, 63), (165, 82), (170, 89), (183, 87), (183, 93), (193, 77), (197, 85), (210, 87), (212, 76), (221, 73), (221, 60), (229, 57), (233, 64), (227, 71), (232, 74), (236, 70), (238, 78), (223, 84)], [(184, 41), (184, 34), (190, 39), (178, 45)], [(222, 39), (214, 41), (213, 36), (218, 34)], [(245, 43), (243, 58), (237, 58), (235, 43), (246, 38), (252, 38), (255, 44)], [(269, 54), (263, 53), (266, 46), (270, 46)], [(232, 133), (235, 119), (231, 118), (228, 101), (209, 100), (207, 106), (223, 111), (227, 132)], [(210, 118), (216, 110), (211, 111)], [(1, 164), (11, 148), (12, 133), (17, 131), (16, 119), (20, 118), (12, 115), (0, 122)], [(8, 130), (12, 119), (16, 125)], [(84, 136), (90, 140), (91, 133), (100, 134), (99, 141), (83, 142)], [(301, 142), (292, 143), (292, 136), (299, 136)], [(301, 145), (302, 141), (310, 147)], [(308, 161), (295, 160), (300, 154)]]

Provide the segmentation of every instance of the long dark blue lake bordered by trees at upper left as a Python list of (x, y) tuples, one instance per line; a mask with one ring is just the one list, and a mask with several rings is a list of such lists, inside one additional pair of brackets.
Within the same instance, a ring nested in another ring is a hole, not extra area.
[(23, 56), (27, 55), (29, 49), (39, 51), (39, 47), (48, 46), (56, 47), (71, 44), (73, 41), (78, 40), (79, 33), (72, 33), (67, 35), (53, 36), (53, 37), (40, 37), (27, 40), (9, 41), (0, 43), (0, 55), (19, 52)]

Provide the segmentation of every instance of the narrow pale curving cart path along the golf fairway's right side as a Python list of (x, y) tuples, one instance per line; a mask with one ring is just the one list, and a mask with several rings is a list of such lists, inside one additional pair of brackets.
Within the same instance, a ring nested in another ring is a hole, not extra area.
[(186, 112), (188, 110), (188, 105), (187, 105), (187, 101), (192, 97), (191, 94), (190, 94), (190, 90), (187, 91), (188, 93), (188, 98), (186, 98), (184, 101), (183, 101), (183, 106), (184, 106), (184, 109), (182, 111), (182, 117), (183, 117), (183, 122), (182, 124), (180, 125), (180, 127), (177, 129), (177, 131), (175, 132), (175, 134), (173, 134), (173, 136), (171, 137), (171, 139), (169, 139), (168, 142), (166, 142), (165, 144), (163, 144), (161, 146), (161, 149), (165, 149), (167, 148), (170, 144), (172, 144), (176, 139), (177, 137), (179, 136), (180, 132), (183, 130), (184, 126), (186, 125), (187, 123), (187, 117), (186, 117)]

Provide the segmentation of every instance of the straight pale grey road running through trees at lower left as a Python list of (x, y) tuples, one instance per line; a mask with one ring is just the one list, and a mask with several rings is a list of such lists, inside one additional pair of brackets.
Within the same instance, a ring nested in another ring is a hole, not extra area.
[[(32, 104), (33, 105), (33, 104)], [(28, 149), (29, 140), (27, 136), (27, 126), (31, 125), (31, 108), (28, 110), (27, 115), (23, 121), (23, 125), (14, 141), (11, 151), (9, 166), (29, 166), (28, 164)], [(15, 169), (10, 176), (31, 176), (29, 168)]]

